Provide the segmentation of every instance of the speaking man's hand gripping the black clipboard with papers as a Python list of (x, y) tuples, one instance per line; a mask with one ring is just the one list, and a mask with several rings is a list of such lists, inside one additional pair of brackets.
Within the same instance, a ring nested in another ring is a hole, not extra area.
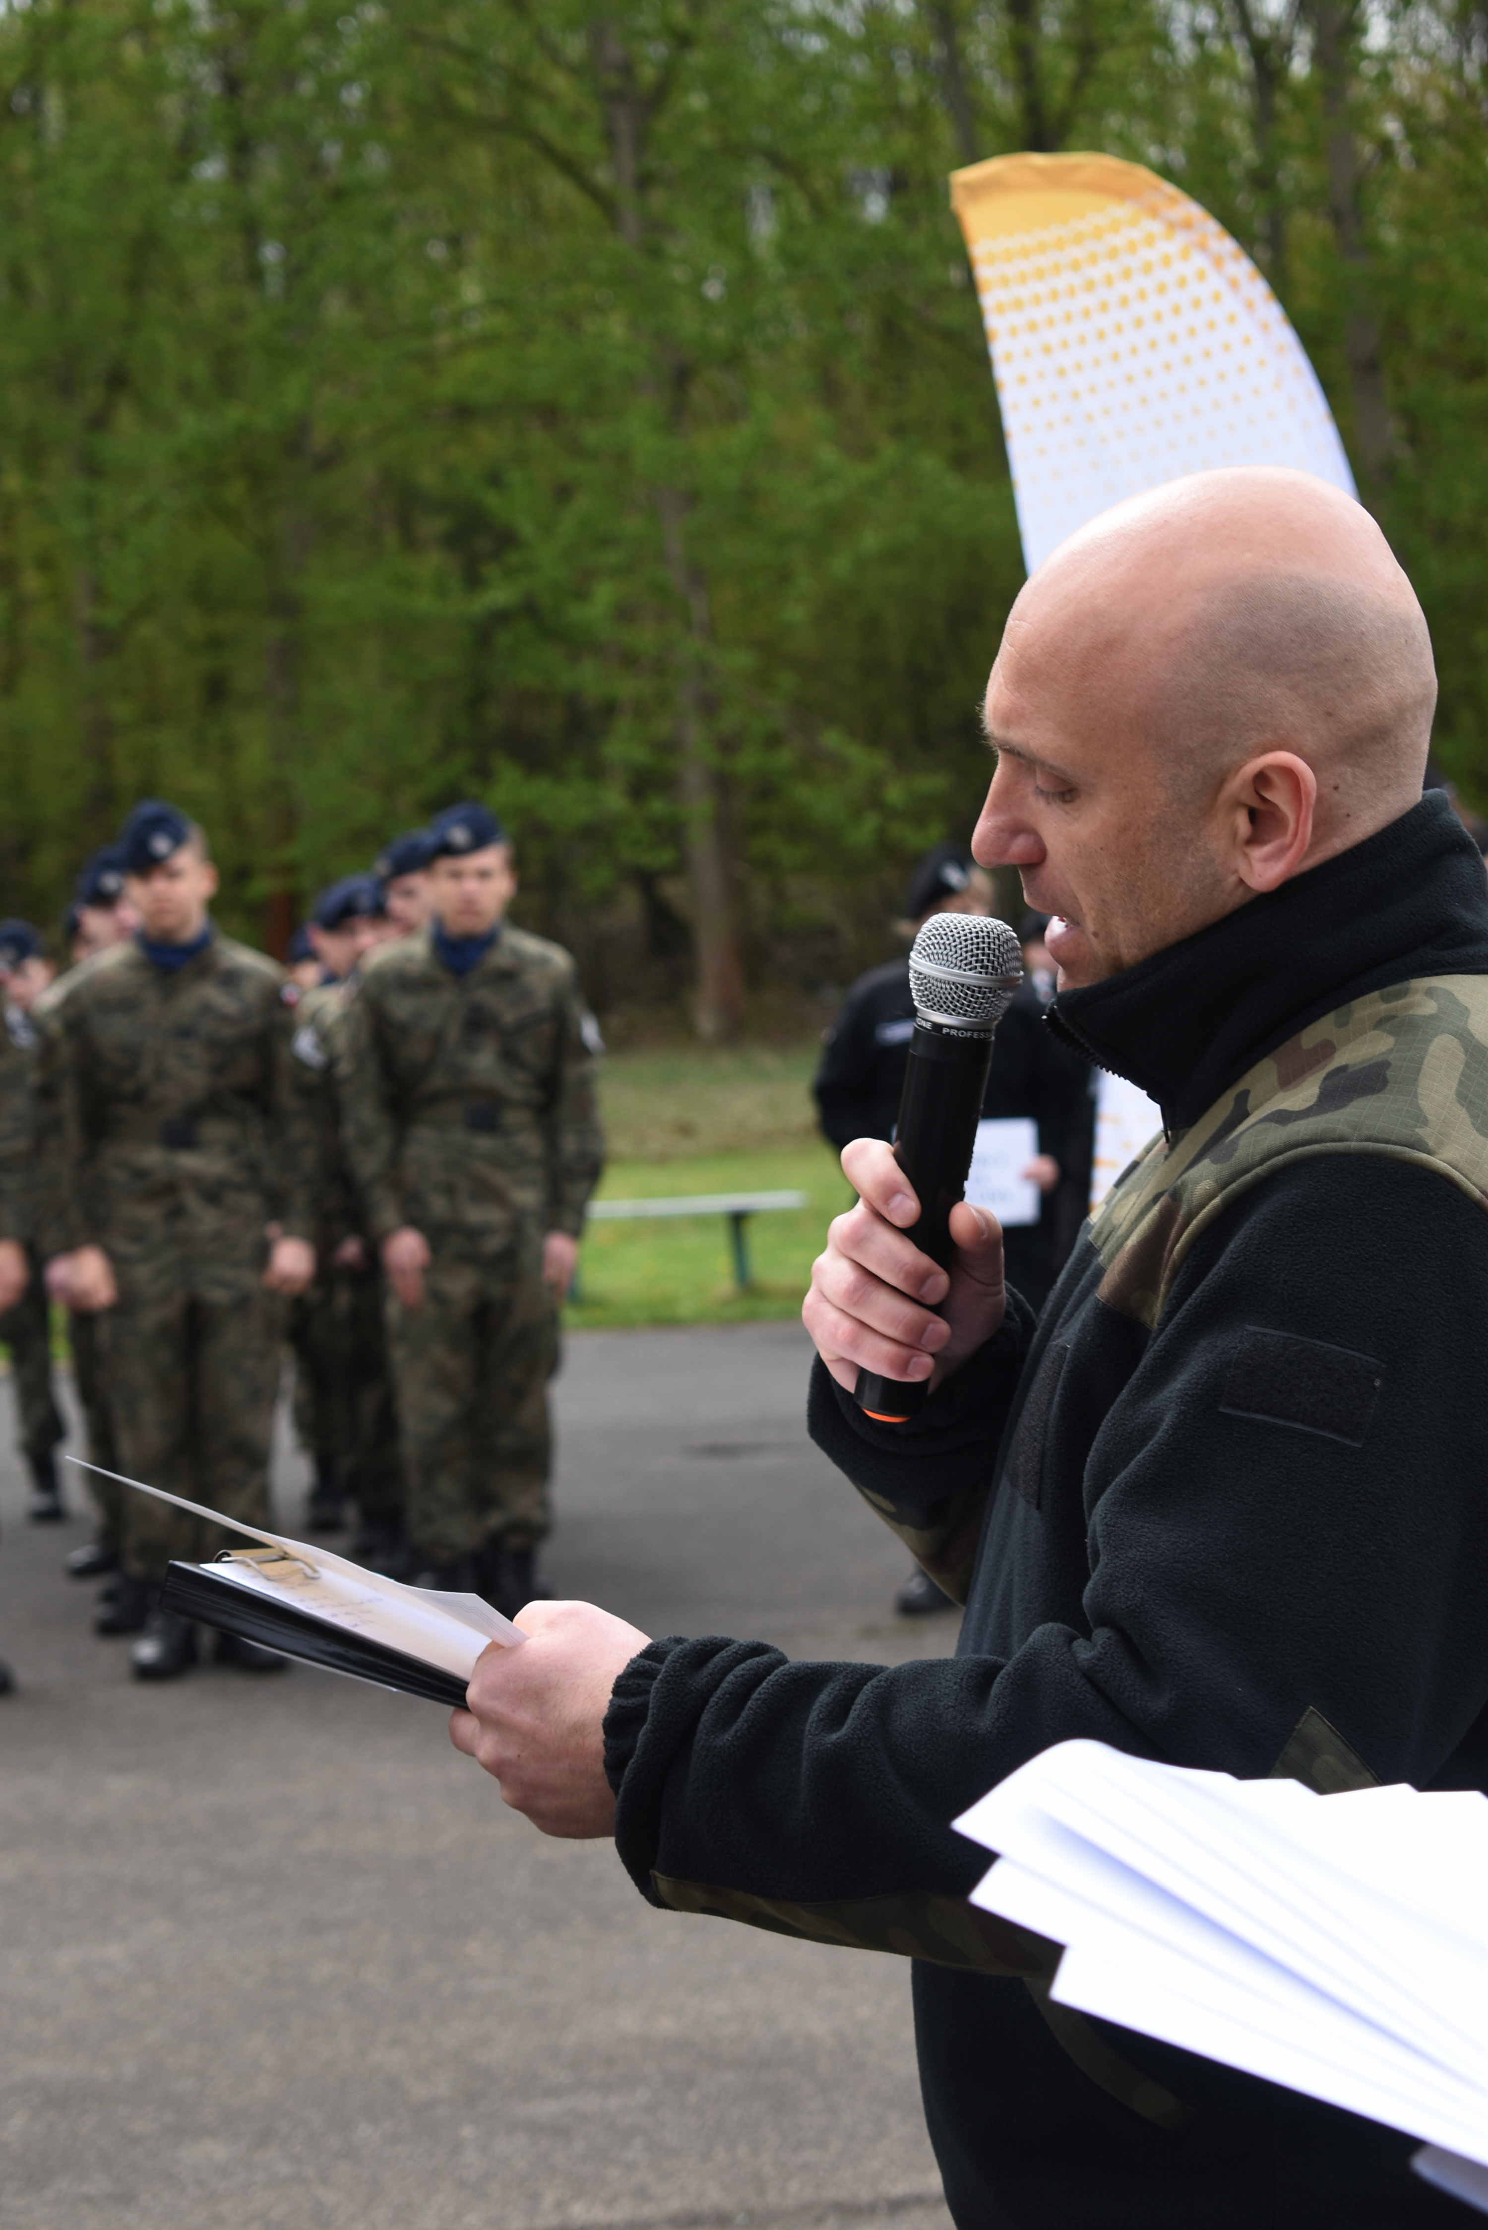
[(477, 1659), (451, 1742), (502, 1784), (544, 1835), (613, 1835), (605, 1780), (609, 1690), (649, 1635), (593, 1603), (529, 1603), (522, 1648), (493, 1641)]

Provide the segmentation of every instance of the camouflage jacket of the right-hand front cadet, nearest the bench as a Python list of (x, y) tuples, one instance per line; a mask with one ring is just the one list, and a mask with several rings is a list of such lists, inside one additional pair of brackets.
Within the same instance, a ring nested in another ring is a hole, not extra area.
[(370, 1235), (473, 1253), (518, 1224), (580, 1233), (605, 1160), (596, 1032), (573, 961), (511, 923), (468, 975), (431, 930), (379, 946), (337, 1048), (341, 1137)]

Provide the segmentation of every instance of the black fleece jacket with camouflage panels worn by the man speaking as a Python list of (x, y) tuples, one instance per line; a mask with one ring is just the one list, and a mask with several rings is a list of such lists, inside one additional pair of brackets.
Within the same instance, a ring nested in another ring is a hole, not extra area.
[[(649, 1644), (607, 1717), (616, 1846), (656, 1904), (921, 1962), (957, 2221), (1080, 2221), (1102, 2163), (1122, 2221), (1187, 2226), (1205, 2194), (1305, 2221), (1318, 2161), (1341, 2221), (1374, 2183), (1405, 2221), (1403, 2145), (1365, 2161), (1318, 2107), (1260, 2159), (1249, 2078), (1055, 2007), (1057, 1947), (968, 1911), (984, 1853), (950, 1822), (1071, 1737), (1318, 1791), (1488, 1786), (1484, 863), (1426, 798), (1060, 1004), (1113, 1066), (1131, 1048), (1169, 1135), (1037, 1325), (1013, 1296), (924, 1418), (875, 1425), (812, 1374), (817, 1443), (964, 1599), (955, 1659)], [(1198, 2152), (1124, 2139), (1111, 2098)]]

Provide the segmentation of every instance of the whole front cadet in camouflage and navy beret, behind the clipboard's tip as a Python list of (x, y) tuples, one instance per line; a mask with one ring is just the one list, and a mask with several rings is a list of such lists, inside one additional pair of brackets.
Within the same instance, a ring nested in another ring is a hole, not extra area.
[[(141, 932), (85, 963), (45, 1039), (47, 1251), (71, 1307), (100, 1313), (123, 1470), (263, 1523), (279, 1296), (315, 1273), (315, 1131), (283, 977), (210, 921), (216, 872), (176, 807), (138, 805), (120, 845)], [(219, 1545), (199, 1519), (125, 1496), (120, 1588), (98, 1626), (145, 1626), (141, 1679), (194, 1661), (194, 1628), (152, 1594), (172, 1557)], [(281, 1661), (230, 1637), (216, 1655)]]

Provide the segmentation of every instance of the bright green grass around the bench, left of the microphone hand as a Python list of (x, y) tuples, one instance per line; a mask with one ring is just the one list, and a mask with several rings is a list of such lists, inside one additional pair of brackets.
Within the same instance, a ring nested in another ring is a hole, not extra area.
[(785, 1191), (808, 1193), (810, 1206), (750, 1218), (752, 1282), (745, 1293), (734, 1287), (723, 1215), (589, 1224), (580, 1251), (580, 1298), (564, 1309), (564, 1325), (743, 1325), (796, 1316), (825, 1226), (852, 1202), (837, 1153), (821, 1140), (683, 1162), (611, 1162), (596, 1195), (600, 1200)]

